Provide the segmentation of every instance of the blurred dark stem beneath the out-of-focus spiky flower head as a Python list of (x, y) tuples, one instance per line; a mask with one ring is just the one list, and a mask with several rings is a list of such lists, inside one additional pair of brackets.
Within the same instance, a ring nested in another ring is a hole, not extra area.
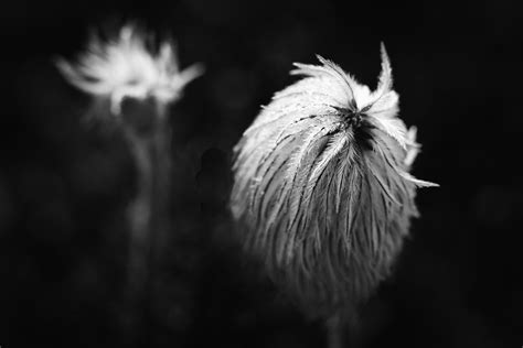
[[(134, 344), (148, 346), (154, 322), (154, 294), (159, 261), (168, 229), (170, 189), (170, 132), (166, 105), (147, 108), (151, 129), (139, 132), (125, 127), (137, 168), (137, 195), (129, 209), (130, 238), (128, 255), (128, 293)], [(143, 112), (141, 110), (140, 112)], [(143, 335), (141, 335), (143, 334)]]

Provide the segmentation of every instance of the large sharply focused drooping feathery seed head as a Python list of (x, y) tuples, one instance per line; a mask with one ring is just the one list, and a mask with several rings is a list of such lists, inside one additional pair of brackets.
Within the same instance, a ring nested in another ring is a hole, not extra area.
[(364, 301), (417, 215), (409, 174), (416, 129), (397, 117), (382, 44), (376, 90), (334, 63), (295, 64), (305, 78), (275, 94), (235, 146), (233, 216), (269, 273), (309, 313)]

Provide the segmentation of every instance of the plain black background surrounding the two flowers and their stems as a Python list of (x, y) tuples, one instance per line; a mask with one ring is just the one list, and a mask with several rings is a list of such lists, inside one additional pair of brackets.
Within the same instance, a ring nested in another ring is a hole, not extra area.
[(90, 99), (53, 67), (87, 28), (138, 19), (206, 74), (171, 108), (171, 252), (156, 347), (322, 347), (230, 240), (232, 145), (292, 62), (319, 53), (375, 87), (386, 43), (401, 117), (418, 127), (414, 174), (437, 182), (362, 314), (365, 347), (523, 345), (522, 11), (504, 1), (10, 1), (0, 7), (0, 345), (118, 347), (126, 143), (85, 121)]

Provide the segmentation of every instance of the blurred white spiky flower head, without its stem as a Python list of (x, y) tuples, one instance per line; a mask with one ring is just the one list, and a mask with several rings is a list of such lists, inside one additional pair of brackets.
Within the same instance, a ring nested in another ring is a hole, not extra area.
[(180, 70), (171, 43), (161, 43), (154, 54), (147, 48), (145, 36), (131, 25), (124, 26), (116, 40), (103, 42), (93, 36), (76, 64), (60, 59), (57, 66), (77, 88), (110, 98), (115, 115), (119, 115), (126, 97), (173, 101), (188, 83), (202, 74), (202, 67), (192, 65)]

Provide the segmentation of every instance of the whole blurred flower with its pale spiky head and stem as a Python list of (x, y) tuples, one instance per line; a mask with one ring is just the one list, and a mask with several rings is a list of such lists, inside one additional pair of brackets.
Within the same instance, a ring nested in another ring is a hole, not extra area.
[[(132, 25), (102, 40), (94, 35), (75, 64), (57, 67), (75, 87), (96, 97), (87, 113), (116, 122), (132, 153), (137, 192), (129, 206), (129, 250), (124, 326), (126, 346), (149, 346), (158, 324), (154, 303), (160, 261), (168, 244), (171, 188), (171, 130), (168, 108), (183, 87), (202, 74), (192, 65), (180, 70), (173, 45), (150, 50), (151, 35)], [(99, 100), (107, 102), (98, 102)], [(108, 110), (99, 105), (108, 105)], [(98, 107), (96, 107), (98, 106)], [(126, 340), (127, 340), (126, 339)]]

